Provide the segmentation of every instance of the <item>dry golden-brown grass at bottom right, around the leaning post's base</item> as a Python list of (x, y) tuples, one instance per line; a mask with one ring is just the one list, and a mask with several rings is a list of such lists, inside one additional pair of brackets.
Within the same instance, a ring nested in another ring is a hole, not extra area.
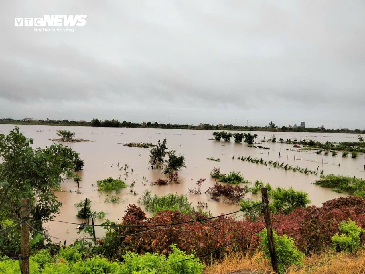
[[(207, 266), (204, 274), (273, 274), (267, 260), (261, 259), (261, 252), (251, 254), (230, 253), (220, 262)], [(242, 270), (239, 272), (239, 270)], [(237, 271), (237, 272), (234, 272)], [(365, 250), (355, 254), (327, 251), (311, 254), (304, 258), (304, 266), (291, 267), (285, 274), (364, 274)]]

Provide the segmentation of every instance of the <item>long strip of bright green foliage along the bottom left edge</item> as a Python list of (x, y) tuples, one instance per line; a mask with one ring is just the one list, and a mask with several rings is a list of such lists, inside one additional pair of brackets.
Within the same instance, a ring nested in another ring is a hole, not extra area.
[[(199, 259), (187, 260), (169, 265), (184, 259), (194, 258), (195, 253), (187, 255), (176, 245), (171, 245), (172, 253), (168, 256), (158, 253), (138, 255), (127, 252), (123, 255), (124, 262), (110, 262), (102, 256), (87, 258), (80, 252), (77, 245), (59, 250), (53, 258), (48, 250), (40, 250), (29, 258), (30, 274), (201, 274), (203, 264)], [(62, 260), (61, 260), (62, 259)], [(156, 269), (156, 270), (155, 270)], [(21, 274), (18, 260), (4, 260), (0, 262), (0, 273)]]

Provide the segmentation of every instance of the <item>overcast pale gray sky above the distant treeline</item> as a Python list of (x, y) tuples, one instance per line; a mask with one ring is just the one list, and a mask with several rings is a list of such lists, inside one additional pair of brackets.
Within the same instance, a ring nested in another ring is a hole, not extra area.
[[(365, 128), (364, 1), (0, 6), (0, 118)], [(14, 26), (45, 14), (86, 24)]]

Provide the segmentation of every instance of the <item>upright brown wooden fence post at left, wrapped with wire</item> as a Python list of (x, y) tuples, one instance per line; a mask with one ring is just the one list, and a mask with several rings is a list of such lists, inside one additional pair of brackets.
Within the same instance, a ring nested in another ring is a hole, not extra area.
[[(20, 208), (21, 217), (29, 217), (30, 213), (30, 199), (22, 198), (22, 205)], [(29, 274), (29, 226), (22, 222), (22, 273)]]

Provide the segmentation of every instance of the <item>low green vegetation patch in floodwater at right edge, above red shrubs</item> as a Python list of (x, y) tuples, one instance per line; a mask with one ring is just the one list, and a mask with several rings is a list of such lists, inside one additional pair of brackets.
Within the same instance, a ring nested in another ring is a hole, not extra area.
[(336, 192), (347, 192), (354, 196), (365, 198), (365, 180), (349, 176), (337, 176), (334, 174), (321, 175), (314, 184), (321, 187), (330, 187)]

